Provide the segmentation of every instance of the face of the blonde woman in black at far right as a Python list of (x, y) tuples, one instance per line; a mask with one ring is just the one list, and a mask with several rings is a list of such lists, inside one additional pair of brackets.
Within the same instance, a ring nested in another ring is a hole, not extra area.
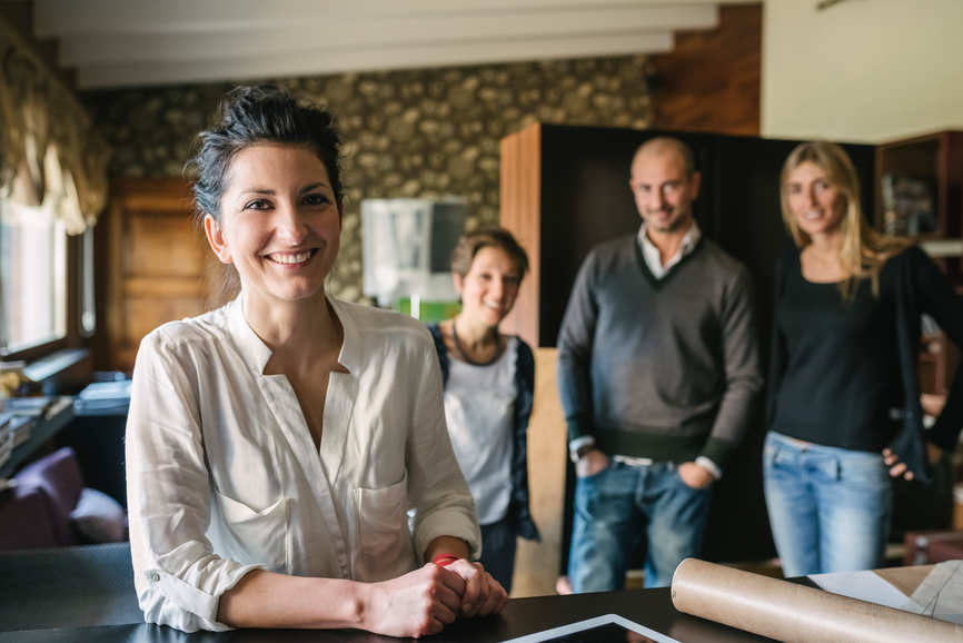
[(796, 225), (811, 237), (838, 229), (846, 198), (813, 161), (804, 161), (790, 172), (786, 181), (790, 210)]

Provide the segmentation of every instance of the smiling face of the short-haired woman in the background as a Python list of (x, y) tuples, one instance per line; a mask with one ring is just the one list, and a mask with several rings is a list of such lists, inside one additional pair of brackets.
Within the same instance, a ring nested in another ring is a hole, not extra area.
[(465, 277), (455, 275), (455, 289), (461, 295), (461, 314), (494, 328), (512, 310), (522, 275), (502, 248), (486, 246), (475, 254)]

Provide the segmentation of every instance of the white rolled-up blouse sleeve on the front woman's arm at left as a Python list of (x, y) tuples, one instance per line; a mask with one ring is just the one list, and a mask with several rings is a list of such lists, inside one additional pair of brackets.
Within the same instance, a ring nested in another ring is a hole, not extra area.
[(196, 379), (186, 346), (166, 343), (162, 332), (143, 339), (127, 423), (130, 546), (146, 621), (224, 631), (220, 595), (261, 566), (217, 556), (205, 536), (211, 483)]

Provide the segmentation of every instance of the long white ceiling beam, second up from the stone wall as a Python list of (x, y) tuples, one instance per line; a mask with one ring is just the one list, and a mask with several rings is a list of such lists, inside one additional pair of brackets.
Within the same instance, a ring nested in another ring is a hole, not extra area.
[[(257, 29), (208, 30), (176, 33), (67, 34), (60, 41), (64, 67), (183, 62), (296, 53), (314, 57), (341, 50), (380, 50), (391, 46), (544, 40), (590, 34), (711, 29), (717, 10), (711, 4), (683, 7), (602, 7), (557, 11), (518, 10), (510, 19), (503, 12), (478, 14), (413, 16), (346, 20), (336, 29), (322, 18), (306, 18), (297, 24), (260, 26)], [(319, 34), (321, 34), (319, 37)]]

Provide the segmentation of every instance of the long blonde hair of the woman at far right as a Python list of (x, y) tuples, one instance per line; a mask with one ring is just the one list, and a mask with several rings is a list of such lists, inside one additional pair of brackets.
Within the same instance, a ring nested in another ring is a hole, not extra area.
[(834, 142), (814, 140), (800, 144), (786, 158), (780, 178), (780, 192), (783, 205), (783, 221), (786, 224), (796, 247), (804, 248), (813, 239), (800, 229), (790, 209), (786, 184), (790, 175), (806, 161), (815, 164), (826, 172), (826, 178), (836, 187), (840, 198), (845, 199), (845, 210), (840, 221), (838, 257), (844, 278), (840, 290), (844, 300), (855, 297), (862, 279), (871, 279), (873, 295), (880, 295), (880, 270), (891, 257), (912, 245), (903, 237), (886, 237), (870, 227), (860, 206), (860, 178), (850, 160), (850, 155)]

